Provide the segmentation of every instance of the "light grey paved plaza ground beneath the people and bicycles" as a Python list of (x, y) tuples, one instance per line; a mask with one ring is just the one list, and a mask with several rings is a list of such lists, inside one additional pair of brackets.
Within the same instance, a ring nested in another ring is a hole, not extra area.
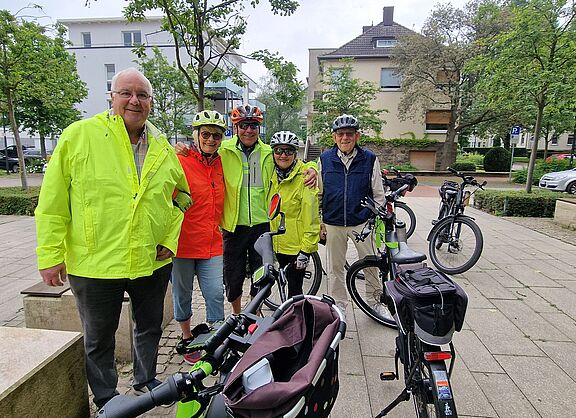
[[(431, 195), (430, 189), (423, 186), (421, 192)], [(418, 219), (410, 245), (427, 253), (438, 199), (408, 197), (406, 202)], [(452, 384), (459, 415), (576, 416), (576, 246), (474, 209), (467, 213), (482, 229), (484, 251), (472, 270), (455, 276), (470, 298), (465, 327), (454, 337)], [(0, 325), (22, 326), (19, 292), (39, 280), (33, 218), (0, 216), (0, 234)], [(352, 250), (349, 257), (353, 260)], [(195, 301), (199, 305), (200, 298)], [(204, 319), (200, 306), (195, 312), (193, 321)], [(373, 417), (401, 390), (400, 382), (379, 380), (381, 371), (393, 370), (396, 334), (352, 305), (346, 314), (341, 389), (331, 416)], [(189, 367), (173, 351), (179, 334), (175, 322), (164, 332), (160, 379)], [(122, 393), (129, 383), (127, 365), (121, 369)], [(157, 408), (146, 416), (173, 414), (173, 408)], [(413, 417), (412, 402), (390, 416)]]

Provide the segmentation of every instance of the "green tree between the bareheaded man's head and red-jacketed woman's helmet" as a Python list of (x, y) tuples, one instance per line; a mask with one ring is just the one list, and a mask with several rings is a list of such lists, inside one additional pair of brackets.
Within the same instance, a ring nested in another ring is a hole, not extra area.
[(150, 121), (168, 139), (186, 130), (185, 116), (194, 113), (196, 99), (188, 88), (182, 72), (170, 64), (159, 48), (154, 47), (153, 57), (142, 57), (138, 63), (154, 89), (154, 107)]

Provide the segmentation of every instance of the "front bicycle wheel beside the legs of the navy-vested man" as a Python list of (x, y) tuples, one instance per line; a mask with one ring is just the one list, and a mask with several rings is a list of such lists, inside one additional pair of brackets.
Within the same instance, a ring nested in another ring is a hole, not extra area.
[[(396, 328), (396, 321), (386, 306), (384, 281), (388, 272), (380, 270), (381, 261), (370, 256), (354, 262), (346, 273), (346, 287), (352, 300), (366, 315), (387, 327)], [(364, 269), (374, 268), (378, 278)]]

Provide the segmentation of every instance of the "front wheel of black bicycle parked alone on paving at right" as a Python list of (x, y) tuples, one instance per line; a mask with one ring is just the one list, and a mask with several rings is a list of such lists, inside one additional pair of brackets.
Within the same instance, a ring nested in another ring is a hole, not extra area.
[(436, 268), (447, 274), (463, 273), (478, 261), (484, 239), (476, 223), (466, 217), (444, 218), (435, 226), (428, 250)]

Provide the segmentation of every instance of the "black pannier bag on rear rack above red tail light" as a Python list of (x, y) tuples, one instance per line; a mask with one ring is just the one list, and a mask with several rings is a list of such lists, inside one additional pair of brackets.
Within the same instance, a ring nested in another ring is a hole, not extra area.
[(448, 344), (460, 331), (468, 305), (464, 289), (430, 267), (406, 270), (386, 282), (388, 308), (403, 333), (414, 331), (428, 344)]

